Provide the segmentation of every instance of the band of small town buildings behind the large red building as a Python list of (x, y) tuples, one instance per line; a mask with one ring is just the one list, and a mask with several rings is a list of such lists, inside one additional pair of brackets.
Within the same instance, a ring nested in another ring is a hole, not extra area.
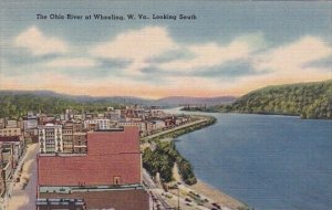
[(61, 115), (28, 113), (21, 120), (0, 119), (0, 136), (23, 136), (38, 141), (40, 153), (84, 154), (87, 151), (86, 133), (137, 126), (139, 136), (188, 123), (188, 116), (166, 114), (160, 109), (131, 106), (103, 113), (83, 113), (66, 109)]

